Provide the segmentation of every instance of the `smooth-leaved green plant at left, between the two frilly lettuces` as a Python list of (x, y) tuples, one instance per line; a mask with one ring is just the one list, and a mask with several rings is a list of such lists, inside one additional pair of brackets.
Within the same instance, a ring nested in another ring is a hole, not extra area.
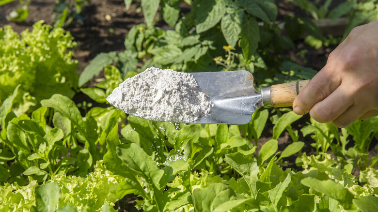
[(27, 183), (25, 176), (44, 182), (56, 174), (85, 176), (90, 172), (105, 154), (106, 135), (122, 117), (120, 111), (93, 107), (83, 119), (73, 101), (54, 94), (42, 100), (42, 107), (30, 117), (26, 114), (17, 117), (12, 106), (18, 88), (0, 107), (3, 161), (0, 181), (23, 185)]

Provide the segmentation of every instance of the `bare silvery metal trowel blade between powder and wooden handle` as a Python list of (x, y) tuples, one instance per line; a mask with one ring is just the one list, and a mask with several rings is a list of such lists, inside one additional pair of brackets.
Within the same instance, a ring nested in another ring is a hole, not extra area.
[(249, 71), (190, 73), (211, 104), (210, 114), (196, 123), (245, 124), (252, 113), (262, 106), (261, 94), (253, 87)]

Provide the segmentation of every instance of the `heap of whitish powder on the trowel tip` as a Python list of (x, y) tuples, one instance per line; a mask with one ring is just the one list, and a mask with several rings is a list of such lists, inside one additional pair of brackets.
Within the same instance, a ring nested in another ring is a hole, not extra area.
[(127, 78), (107, 100), (127, 114), (155, 121), (197, 122), (211, 107), (191, 74), (155, 67)]

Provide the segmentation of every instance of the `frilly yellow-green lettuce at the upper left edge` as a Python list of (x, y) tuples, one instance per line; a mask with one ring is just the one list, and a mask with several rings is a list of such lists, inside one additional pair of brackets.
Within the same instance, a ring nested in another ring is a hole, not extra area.
[(10, 26), (0, 28), (0, 101), (3, 102), (16, 86), (18, 114), (38, 108), (42, 99), (54, 93), (72, 98), (77, 88), (78, 61), (73, 60), (76, 46), (69, 32), (39, 21), (33, 30), (20, 36)]

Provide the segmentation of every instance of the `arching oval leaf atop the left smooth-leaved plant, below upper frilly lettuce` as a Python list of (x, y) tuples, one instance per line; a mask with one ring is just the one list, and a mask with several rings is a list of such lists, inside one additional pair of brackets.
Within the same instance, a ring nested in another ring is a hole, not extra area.
[(75, 103), (68, 97), (62, 94), (54, 94), (49, 99), (44, 99), (41, 101), (41, 105), (45, 107), (52, 107), (63, 116), (74, 121), (76, 124), (82, 122), (80, 111)]

